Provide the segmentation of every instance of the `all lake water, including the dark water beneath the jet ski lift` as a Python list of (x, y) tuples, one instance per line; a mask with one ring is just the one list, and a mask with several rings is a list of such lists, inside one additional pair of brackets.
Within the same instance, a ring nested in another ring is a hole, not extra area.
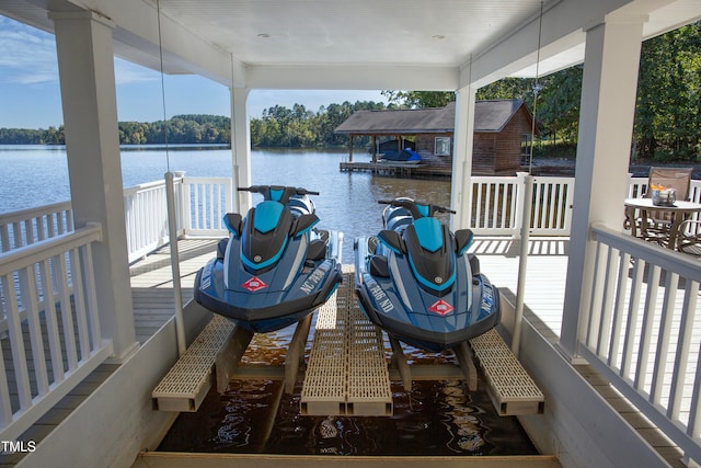
[[(321, 227), (344, 232), (344, 263), (353, 262), (353, 239), (381, 229), (378, 199), (410, 196), (448, 206), (450, 183), (342, 173), (345, 152), (253, 151), (252, 183), (297, 185), (318, 191)], [(357, 160), (363, 157), (356, 155)], [(369, 158), (368, 158), (369, 159)], [(169, 164), (170, 163), (170, 164)], [(228, 149), (123, 149), (124, 186), (161, 180), (170, 170), (193, 176), (231, 176)], [(62, 147), (0, 146), (0, 213), (70, 198)], [(260, 195), (254, 195), (257, 202)], [(244, 364), (281, 365), (292, 328), (256, 335)], [(386, 347), (389, 349), (387, 344)], [(409, 349), (410, 362), (447, 362)], [(283, 396), (272, 380), (232, 380), (211, 392), (202, 409), (183, 413), (161, 450), (335, 455), (509, 455), (535, 454), (512, 418), (499, 418), (484, 389), (469, 393), (462, 383), (418, 381), (411, 392), (393, 385), (391, 418), (310, 418), (299, 414), (299, 393)]]

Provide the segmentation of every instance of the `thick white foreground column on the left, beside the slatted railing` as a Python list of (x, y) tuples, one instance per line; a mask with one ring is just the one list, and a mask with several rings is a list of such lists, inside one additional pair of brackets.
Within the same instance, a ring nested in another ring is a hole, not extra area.
[(112, 30), (91, 11), (51, 12), (76, 227), (102, 225), (94, 247), (102, 335), (122, 359), (138, 345), (127, 261)]

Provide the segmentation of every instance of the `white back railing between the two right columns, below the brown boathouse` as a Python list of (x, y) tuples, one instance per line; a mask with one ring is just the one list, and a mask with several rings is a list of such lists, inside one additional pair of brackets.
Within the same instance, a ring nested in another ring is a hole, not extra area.
[[(472, 178), (470, 228), (475, 235), (520, 235), (526, 174)], [(533, 178), (530, 233), (570, 236), (574, 178)]]

